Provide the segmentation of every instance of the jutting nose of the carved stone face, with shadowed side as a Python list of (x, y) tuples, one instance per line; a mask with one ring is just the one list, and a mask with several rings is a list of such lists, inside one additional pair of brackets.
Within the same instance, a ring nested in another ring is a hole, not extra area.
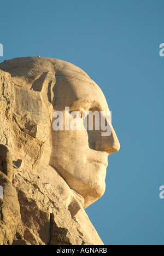
[(120, 143), (118, 137), (112, 126), (112, 133), (110, 136), (101, 137), (101, 141), (95, 142), (95, 149), (99, 151), (107, 152), (108, 155), (116, 153), (120, 150)]

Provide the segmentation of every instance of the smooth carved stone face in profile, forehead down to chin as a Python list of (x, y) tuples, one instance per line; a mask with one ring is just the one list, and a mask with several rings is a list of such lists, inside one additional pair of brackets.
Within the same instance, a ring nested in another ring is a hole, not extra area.
[[(54, 110), (65, 112), (65, 107), (109, 111), (106, 98), (90, 78), (84, 80), (56, 76)], [(65, 124), (65, 121), (64, 121)], [(84, 197), (89, 206), (105, 191), (108, 155), (118, 152), (120, 144), (112, 127), (112, 134), (102, 137), (101, 131), (69, 130), (52, 132), (50, 165), (55, 167), (69, 187)]]

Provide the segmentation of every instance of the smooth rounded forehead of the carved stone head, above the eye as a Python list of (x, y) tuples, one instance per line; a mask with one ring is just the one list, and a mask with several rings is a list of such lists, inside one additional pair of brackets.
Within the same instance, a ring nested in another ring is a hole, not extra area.
[(97, 107), (101, 110), (109, 110), (102, 90), (89, 78), (81, 80), (73, 77), (56, 76), (56, 84), (55, 110), (64, 109), (66, 106)]

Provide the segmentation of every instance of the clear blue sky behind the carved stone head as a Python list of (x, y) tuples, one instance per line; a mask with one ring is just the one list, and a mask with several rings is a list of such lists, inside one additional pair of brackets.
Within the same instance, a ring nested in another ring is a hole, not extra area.
[(163, 0), (5, 0), (4, 57), (52, 57), (82, 68), (112, 110), (121, 149), (106, 193), (87, 208), (106, 245), (164, 245)]

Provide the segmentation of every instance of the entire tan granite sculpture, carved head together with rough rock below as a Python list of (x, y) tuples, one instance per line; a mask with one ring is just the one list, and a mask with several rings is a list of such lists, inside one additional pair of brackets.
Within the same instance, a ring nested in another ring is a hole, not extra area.
[(104, 139), (54, 132), (54, 110), (77, 110), (77, 101), (109, 110), (101, 89), (71, 63), (0, 64), (0, 245), (103, 245), (84, 208), (103, 195), (107, 158), (120, 144), (113, 128)]

